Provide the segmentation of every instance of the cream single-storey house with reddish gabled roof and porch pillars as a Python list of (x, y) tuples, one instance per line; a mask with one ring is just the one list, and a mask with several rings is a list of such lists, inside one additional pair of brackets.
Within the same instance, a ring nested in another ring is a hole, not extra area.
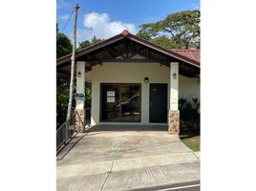
[[(85, 73), (92, 74), (91, 125), (166, 124), (179, 134), (179, 98), (200, 99), (199, 50), (170, 51), (123, 31), (77, 52), (75, 61), (76, 94), (84, 94)], [(71, 54), (56, 68), (70, 74)], [(83, 117), (83, 100), (76, 111)]]

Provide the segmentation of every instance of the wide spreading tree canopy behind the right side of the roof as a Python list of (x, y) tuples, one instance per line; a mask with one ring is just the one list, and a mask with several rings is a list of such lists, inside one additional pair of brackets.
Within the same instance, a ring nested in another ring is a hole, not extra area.
[(168, 14), (163, 20), (139, 28), (139, 37), (167, 49), (200, 48), (200, 11)]

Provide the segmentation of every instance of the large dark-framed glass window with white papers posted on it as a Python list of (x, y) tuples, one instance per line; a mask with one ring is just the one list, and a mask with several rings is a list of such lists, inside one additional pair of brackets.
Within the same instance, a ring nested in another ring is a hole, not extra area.
[(139, 122), (140, 84), (101, 84), (100, 120)]

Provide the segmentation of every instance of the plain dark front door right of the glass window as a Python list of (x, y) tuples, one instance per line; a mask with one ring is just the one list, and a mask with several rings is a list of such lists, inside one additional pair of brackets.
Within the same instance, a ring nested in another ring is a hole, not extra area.
[(150, 84), (149, 121), (167, 122), (167, 84)]

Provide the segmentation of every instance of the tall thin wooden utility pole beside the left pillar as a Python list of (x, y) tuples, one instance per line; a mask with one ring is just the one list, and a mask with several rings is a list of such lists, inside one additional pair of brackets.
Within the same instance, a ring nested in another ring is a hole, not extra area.
[(71, 109), (72, 109), (72, 98), (74, 92), (74, 73), (75, 73), (75, 49), (76, 49), (76, 20), (77, 20), (77, 10), (79, 9), (79, 5), (75, 4), (74, 8), (74, 31), (73, 31), (73, 51), (71, 56), (71, 82), (70, 82), (70, 98), (69, 98), (69, 107), (67, 120), (71, 117)]

